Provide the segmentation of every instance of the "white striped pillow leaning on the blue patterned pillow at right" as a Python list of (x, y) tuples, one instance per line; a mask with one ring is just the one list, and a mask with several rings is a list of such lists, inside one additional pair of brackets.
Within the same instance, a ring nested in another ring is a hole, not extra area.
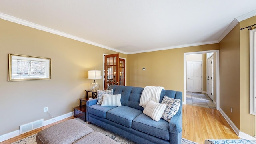
[(147, 116), (158, 122), (161, 119), (165, 108), (165, 104), (160, 104), (154, 102), (153, 100), (150, 100), (147, 103), (145, 109), (143, 110), (143, 114), (146, 114)]

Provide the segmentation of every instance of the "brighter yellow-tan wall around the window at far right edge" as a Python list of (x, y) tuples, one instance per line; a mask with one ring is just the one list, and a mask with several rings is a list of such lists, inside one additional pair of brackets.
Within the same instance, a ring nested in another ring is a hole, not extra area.
[[(240, 22), (240, 28), (255, 24), (256, 16)], [(240, 32), (240, 130), (255, 134), (255, 116), (249, 114), (249, 30)]]

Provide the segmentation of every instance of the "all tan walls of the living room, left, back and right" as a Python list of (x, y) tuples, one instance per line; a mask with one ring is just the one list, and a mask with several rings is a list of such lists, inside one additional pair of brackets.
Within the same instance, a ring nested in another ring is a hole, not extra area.
[[(239, 29), (255, 21), (254, 16), (240, 22), (219, 44), (120, 54), (127, 60), (127, 85), (164, 86), (184, 94), (184, 53), (220, 49), (220, 108), (236, 127), (253, 136), (254, 116), (249, 114), (249, 32)], [(28, 122), (50, 119), (43, 111), (45, 106), (55, 117), (72, 112), (92, 82), (86, 78), (87, 71), (103, 70), (103, 54), (116, 53), (1, 19), (0, 25), (0, 135)], [(8, 82), (9, 53), (52, 58), (52, 80)], [(142, 70), (144, 67), (146, 70)], [(98, 82), (102, 88), (102, 80)]]

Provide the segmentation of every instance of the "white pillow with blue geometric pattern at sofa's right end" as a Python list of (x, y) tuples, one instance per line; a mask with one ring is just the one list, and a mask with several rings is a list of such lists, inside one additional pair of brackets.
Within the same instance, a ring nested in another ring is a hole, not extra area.
[(180, 108), (180, 99), (169, 98), (168, 96), (164, 96), (161, 104), (166, 105), (166, 109), (164, 110), (164, 114), (162, 118), (168, 122), (170, 122), (171, 118), (178, 112)]

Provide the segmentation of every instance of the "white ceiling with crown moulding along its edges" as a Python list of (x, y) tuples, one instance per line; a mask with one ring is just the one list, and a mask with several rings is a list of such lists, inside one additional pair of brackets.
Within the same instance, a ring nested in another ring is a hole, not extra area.
[(218, 43), (255, 15), (256, 0), (0, 0), (2, 19), (125, 54)]

